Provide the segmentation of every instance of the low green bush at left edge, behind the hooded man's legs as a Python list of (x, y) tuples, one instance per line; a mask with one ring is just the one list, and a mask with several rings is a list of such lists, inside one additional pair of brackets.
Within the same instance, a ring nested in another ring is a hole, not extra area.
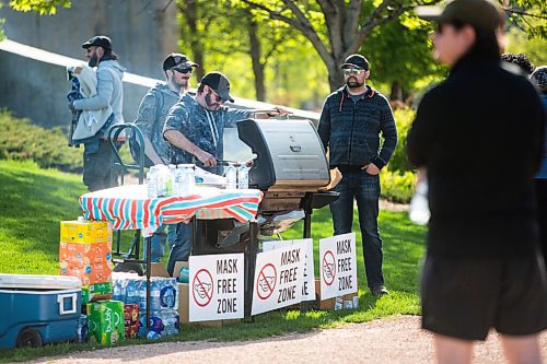
[(65, 172), (82, 171), (83, 148), (69, 148), (60, 128), (44, 129), (28, 119), (15, 118), (0, 110), (0, 158), (33, 160), (42, 168)]

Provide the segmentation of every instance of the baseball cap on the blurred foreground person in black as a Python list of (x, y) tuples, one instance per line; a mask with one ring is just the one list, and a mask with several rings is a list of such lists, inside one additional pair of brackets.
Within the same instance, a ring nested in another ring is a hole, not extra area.
[(418, 17), (438, 23), (470, 24), (485, 31), (496, 31), (503, 24), (503, 13), (489, 0), (454, 0), (445, 8), (417, 7)]

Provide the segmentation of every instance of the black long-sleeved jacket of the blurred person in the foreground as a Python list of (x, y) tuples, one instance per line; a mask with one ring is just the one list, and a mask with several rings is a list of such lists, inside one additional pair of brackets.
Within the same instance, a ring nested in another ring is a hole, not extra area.
[(532, 84), (466, 56), (428, 92), (407, 137), (428, 171), (428, 254), (522, 257), (537, 244), (534, 175), (544, 113)]

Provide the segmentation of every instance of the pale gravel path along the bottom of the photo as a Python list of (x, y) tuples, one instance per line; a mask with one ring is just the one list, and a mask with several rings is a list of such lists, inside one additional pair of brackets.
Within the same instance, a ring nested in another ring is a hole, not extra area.
[[(547, 363), (547, 332), (542, 334)], [(431, 336), (420, 317), (396, 316), (336, 329), (243, 342), (166, 342), (46, 357), (39, 363), (432, 363)], [(503, 363), (496, 333), (475, 348), (474, 363)]]

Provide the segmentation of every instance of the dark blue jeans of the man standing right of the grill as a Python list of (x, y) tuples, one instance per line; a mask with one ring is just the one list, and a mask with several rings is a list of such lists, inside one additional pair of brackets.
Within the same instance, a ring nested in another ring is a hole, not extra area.
[(346, 172), (334, 190), (340, 192), (340, 197), (330, 203), (335, 235), (351, 233), (356, 199), (368, 285), (373, 287), (384, 284), (382, 239), (377, 228), (380, 176), (372, 176), (364, 171)]

